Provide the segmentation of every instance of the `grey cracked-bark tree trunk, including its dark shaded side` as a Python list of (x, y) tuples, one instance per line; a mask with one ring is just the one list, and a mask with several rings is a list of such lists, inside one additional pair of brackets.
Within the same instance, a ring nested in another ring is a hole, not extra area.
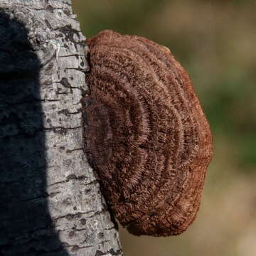
[(71, 2), (0, 8), (0, 255), (122, 255), (82, 151), (86, 48)]

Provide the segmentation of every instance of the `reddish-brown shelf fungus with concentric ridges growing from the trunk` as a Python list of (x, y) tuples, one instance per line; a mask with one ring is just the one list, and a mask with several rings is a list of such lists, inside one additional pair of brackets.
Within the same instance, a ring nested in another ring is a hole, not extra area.
[(201, 201), (210, 127), (164, 46), (102, 31), (87, 41), (85, 150), (114, 216), (135, 235), (178, 235)]

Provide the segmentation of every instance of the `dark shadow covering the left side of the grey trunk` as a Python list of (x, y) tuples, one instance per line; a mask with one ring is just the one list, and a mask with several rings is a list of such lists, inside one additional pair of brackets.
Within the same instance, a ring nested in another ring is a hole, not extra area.
[(23, 24), (0, 11), (0, 255), (68, 256), (48, 211), (41, 63)]

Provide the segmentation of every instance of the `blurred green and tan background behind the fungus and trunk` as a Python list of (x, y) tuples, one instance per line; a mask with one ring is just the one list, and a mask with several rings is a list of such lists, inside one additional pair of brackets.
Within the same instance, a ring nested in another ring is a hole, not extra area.
[(256, 255), (256, 1), (73, 0), (85, 36), (110, 28), (170, 48), (214, 139), (201, 209), (182, 235), (135, 237), (126, 256)]

